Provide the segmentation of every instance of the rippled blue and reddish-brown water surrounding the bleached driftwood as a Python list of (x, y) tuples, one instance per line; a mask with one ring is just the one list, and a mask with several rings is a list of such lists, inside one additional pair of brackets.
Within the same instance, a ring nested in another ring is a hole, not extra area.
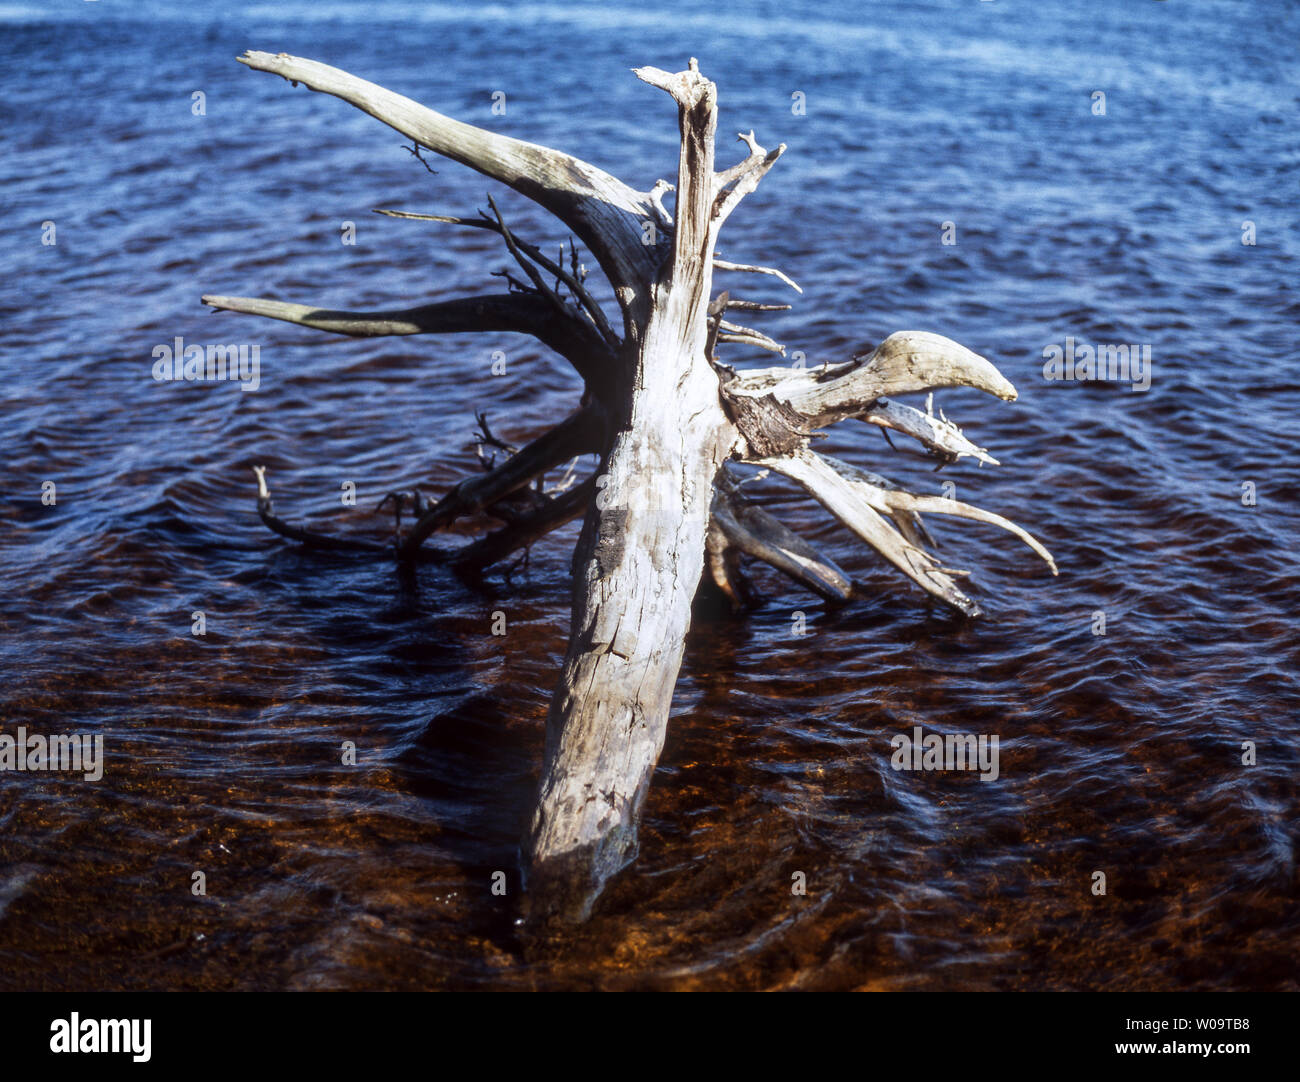
[[(0, 727), (107, 754), (100, 782), (0, 774), (0, 987), (1297, 987), (1300, 8), (728, 7), (0, 7)], [(638, 861), (581, 931), (525, 942), (516, 844), (576, 527), (481, 587), (402, 575), (269, 534), (250, 467), (281, 512), (382, 538), (385, 492), (478, 468), (474, 410), (524, 442), (578, 382), (523, 338), (332, 338), (199, 304), (421, 303), (507, 265), (489, 234), (370, 213), (473, 213), (486, 181), (430, 176), (246, 48), (642, 189), (673, 173), (676, 122), (629, 69), (698, 56), (722, 131), (789, 144), (723, 235), (803, 285), (763, 329), (810, 364), (933, 330), (1020, 390), (936, 395), (1001, 467), (935, 475), (857, 424), (822, 449), (952, 480), (1061, 576), (935, 524), (985, 610), (961, 620), (780, 503), (868, 600), (755, 570), (753, 613), (702, 616)], [(176, 336), (257, 343), (261, 389), (155, 382)], [(1066, 337), (1149, 345), (1150, 390), (1045, 381)], [(914, 726), (997, 735), (998, 779), (890, 769)]]

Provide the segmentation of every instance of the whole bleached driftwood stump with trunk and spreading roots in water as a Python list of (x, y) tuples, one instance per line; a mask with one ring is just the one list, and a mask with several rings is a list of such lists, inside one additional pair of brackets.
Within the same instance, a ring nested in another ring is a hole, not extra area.
[[(1037, 553), (1046, 550), (998, 515), (939, 497), (913, 495), (883, 477), (819, 455), (815, 430), (841, 420), (910, 436), (940, 466), (963, 456), (996, 463), (946, 417), (894, 401), (936, 388), (970, 386), (1002, 399), (1015, 390), (989, 362), (937, 334), (901, 332), (875, 350), (818, 369), (736, 371), (720, 347), (783, 354), (732, 312), (785, 304), (714, 297), (714, 270), (766, 276), (800, 290), (784, 272), (716, 257), (719, 231), (781, 156), (753, 133), (745, 157), (714, 164), (716, 88), (694, 60), (684, 72), (641, 68), (636, 75), (676, 104), (681, 135), (675, 183), (638, 191), (571, 155), (473, 127), (374, 83), (312, 60), (250, 52), (240, 62), (332, 94), (426, 150), (459, 161), (528, 196), (554, 215), (594, 256), (612, 286), (611, 320), (585, 286), (577, 247), (550, 259), (515, 235), (489, 199), (478, 217), (395, 217), (497, 233), (519, 274), (507, 293), (464, 297), (385, 312), (341, 312), (308, 304), (207, 295), (213, 308), (269, 316), (359, 337), (463, 332), (530, 334), (564, 356), (584, 380), (581, 407), (499, 466), (456, 485), (436, 503), (394, 493), (398, 534), (391, 548), (294, 527), (270, 503), (259, 468), (259, 511), (282, 536), (318, 548), (429, 555), (425, 544), (465, 515), (503, 525), (454, 553), (434, 553), (481, 572), (550, 529), (582, 516), (573, 559), (568, 653), (547, 720), (541, 789), (524, 843), (534, 914), (584, 917), (602, 886), (636, 853), (637, 819), (668, 722), (692, 601), (702, 579), (740, 606), (751, 596), (742, 558), (762, 561), (818, 596), (844, 602), (861, 587), (833, 561), (748, 499), (736, 475), (744, 464), (801, 485), (858, 537), (931, 597), (965, 613), (975, 602), (954, 572), (927, 551), (922, 512), (998, 525)], [(675, 192), (672, 209), (664, 196)], [(485, 441), (503, 447), (484, 424)], [(581, 455), (599, 466), (551, 489), (550, 471)], [(400, 529), (410, 503), (413, 525)]]

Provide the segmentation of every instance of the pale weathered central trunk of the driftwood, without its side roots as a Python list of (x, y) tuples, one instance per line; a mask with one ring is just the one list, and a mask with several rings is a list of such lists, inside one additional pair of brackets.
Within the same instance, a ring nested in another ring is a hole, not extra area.
[(703, 570), (714, 479), (736, 438), (706, 356), (716, 91), (694, 62), (659, 85), (681, 125), (672, 257), (651, 291), (627, 421), (578, 544), (572, 637), (528, 839), (533, 897), (577, 917), (636, 853)]

